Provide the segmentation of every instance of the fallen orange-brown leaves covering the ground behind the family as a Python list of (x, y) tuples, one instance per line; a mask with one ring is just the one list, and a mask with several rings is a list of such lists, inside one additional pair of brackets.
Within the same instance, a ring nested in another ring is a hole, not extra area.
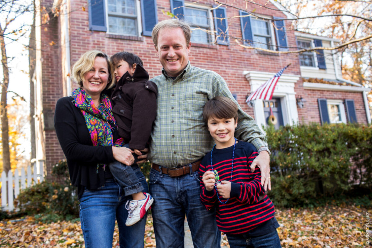
[[(371, 210), (356, 206), (327, 206), (314, 209), (276, 209), (283, 248), (352, 248), (366, 247), (366, 221)], [(367, 219), (368, 218), (368, 219)], [(228, 248), (226, 236), (221, 247)], [(84, 247), (80, 222), (61, 221), (45, 224), (28, 216), (0, 222), (0, 247), (68, 248)], [(113, 247), (119, 248), (115, 227)], [(145, 247), (156, 247), (152, 218), (147, 218)]]

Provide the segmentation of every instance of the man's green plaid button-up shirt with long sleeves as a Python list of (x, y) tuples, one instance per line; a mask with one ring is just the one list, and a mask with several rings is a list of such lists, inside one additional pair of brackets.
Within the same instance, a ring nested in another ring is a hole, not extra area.
[[(148, 159), (164, 167), (177, 167), (201, 159), (214, 145), (203, 121), (204, 104), (215, 96), (234, 98), (220, 75), (192, 67), (190, 61), (174, 80), (164, 69), (162, 72), (151, 79), (158, 86), (158, 96)], [(266, 146), (259, 126), (240, 106), (235, 137), (257, 149)]]

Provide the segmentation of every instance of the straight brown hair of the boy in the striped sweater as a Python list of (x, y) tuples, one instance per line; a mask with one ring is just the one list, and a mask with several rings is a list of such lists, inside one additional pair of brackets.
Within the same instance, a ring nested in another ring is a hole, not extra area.
[(206, 102), (203, 109), (203, 120), (208, 125), (210, 118), (230, 119), (234, 118), (235, 123), (238, 120), (238, 106), (228, 97), (216, 96)]

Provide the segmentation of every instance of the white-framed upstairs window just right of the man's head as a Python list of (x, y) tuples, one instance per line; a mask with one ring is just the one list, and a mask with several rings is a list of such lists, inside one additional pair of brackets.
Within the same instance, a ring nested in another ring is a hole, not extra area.
[(185, 4), (185, 21), (191, 28), (191, 42), (208, 44), (212, 37), (212, 13), (210, 8), (196, 4)]

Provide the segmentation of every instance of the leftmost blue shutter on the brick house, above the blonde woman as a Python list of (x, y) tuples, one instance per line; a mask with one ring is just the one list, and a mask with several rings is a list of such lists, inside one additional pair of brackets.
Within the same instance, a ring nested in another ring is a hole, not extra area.
[(105, 0), (89, 0), (89, 30), (107, 31)]

